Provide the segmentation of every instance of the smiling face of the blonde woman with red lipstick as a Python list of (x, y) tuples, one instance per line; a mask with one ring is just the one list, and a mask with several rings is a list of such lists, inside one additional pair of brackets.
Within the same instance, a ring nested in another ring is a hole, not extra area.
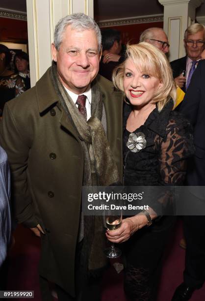
[(133, 106), (149, 105), (161, 86), (158, 78), (137, 70), (131, 59), (125, 62), (124, 91)]

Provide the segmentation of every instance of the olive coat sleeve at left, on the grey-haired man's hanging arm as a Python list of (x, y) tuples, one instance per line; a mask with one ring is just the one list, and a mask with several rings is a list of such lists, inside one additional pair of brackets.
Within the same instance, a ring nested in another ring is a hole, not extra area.
[(8, 104), (4, 106), (0, 121), (0, 143), (8, 155), (12, 176), (12, 205), (17, 222), (26, 227), (35, 227), (37, 221), (27, 179), (29, 145), (24, 137), (24, 129), (12, 115)]

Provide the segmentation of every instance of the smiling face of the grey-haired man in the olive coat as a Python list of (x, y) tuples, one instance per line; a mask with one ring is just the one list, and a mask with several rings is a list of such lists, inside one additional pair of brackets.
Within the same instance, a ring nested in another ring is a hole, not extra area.
[(101, 54), (94, 30), (75, 30), (67, 26), (58, 51), (52, 44), (52, 59), (62, 84), (76, 94), (86, 91), (99, 70)]

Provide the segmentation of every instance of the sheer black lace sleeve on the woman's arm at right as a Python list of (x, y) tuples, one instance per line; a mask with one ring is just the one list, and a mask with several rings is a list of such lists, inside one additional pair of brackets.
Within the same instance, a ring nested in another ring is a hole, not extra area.
[(172, 118), (164, 137), (156, 140), (160, 180), (158, 187), (150, 189), (150, 206), (158, 216), (172, 215), (177, 202), (175, 186), (183, 185), (187, 158), (194, 153), (192, 126), (183, 118)]

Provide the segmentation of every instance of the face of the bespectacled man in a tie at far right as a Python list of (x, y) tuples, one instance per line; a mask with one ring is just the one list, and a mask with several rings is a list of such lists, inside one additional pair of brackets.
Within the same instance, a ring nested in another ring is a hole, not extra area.
[(204, 44), (196, 44), (196, 42), (204, 42), (204, 30), (195, 34), (188, 34), (187, 39), (184, 40), (186, 54), (191, 60), (199, 60), (201, 53), (204, 50)]

